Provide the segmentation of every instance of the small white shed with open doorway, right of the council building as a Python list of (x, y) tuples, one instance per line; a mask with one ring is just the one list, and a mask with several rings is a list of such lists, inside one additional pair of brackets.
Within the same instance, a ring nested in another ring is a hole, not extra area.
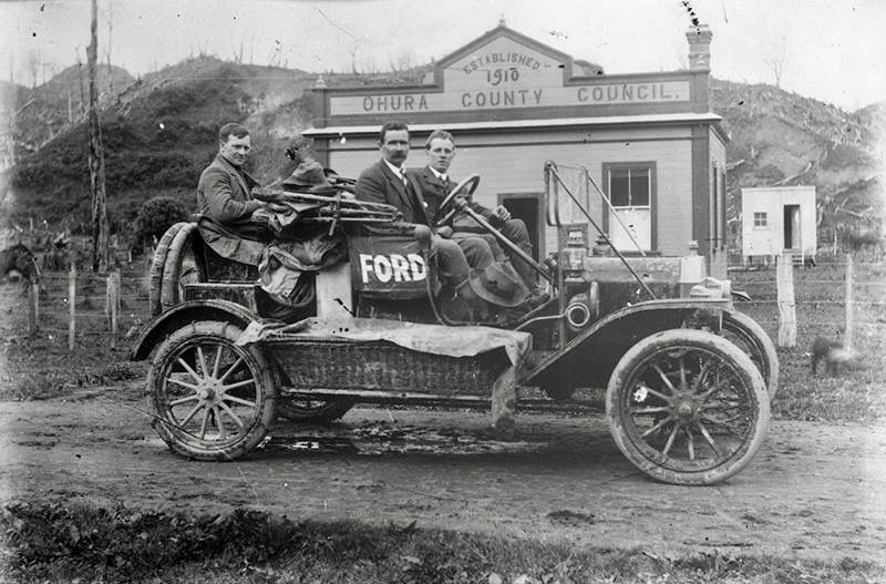
[(769, 186), (741, 189), (744, 262), (753, 256), (793, 253), (815, 257), (815, 187)]

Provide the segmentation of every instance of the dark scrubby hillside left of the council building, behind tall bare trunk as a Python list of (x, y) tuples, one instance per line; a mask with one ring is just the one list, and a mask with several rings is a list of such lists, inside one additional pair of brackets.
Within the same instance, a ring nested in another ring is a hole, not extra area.
[[(214, 156), (222, 122), (257, 129), (255, 170), (265, 176), (265, 161), (285, 160), (289, 139), (309, 123), (299, 100), (313, 80), (299, 71), (199, 58), (134, 80), (105, 100), (102, 136), (112, 230), (126, 230), (150, 196), (181, 196), (193, 206), (196, 178)], [(271, 131), (290, 127), (291, 135)], [(16, 196), (7, 197), (7, 216), (21, 222), (37, 215), (75, 230), (87, 224), (85, 132), (80, 121), (37, 153), (17, 141), (18, 160), (10, 174)]]

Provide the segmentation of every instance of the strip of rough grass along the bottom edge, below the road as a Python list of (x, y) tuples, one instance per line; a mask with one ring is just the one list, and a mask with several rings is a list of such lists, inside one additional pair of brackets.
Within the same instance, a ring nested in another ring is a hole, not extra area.
[(0, 514), (11, 582), (669, 582), (863, 583), (886, 571), (717, 551), (662, 557), (635, 549), (485, 537), (410, 525), (297, 522), (264, 512), (192, 516), (13, 502)]

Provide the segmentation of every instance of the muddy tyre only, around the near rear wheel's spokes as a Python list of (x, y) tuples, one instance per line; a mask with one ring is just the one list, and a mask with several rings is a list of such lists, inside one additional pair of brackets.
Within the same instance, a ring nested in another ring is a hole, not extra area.
[[(275, 409), (277, 389), (268, 360), (261, 350), (255, 345), (247, 347), (235, 345), (241, 332), (241, 328), (228, 322), (203, 320), (179, 328), (161, 344), (147, 376), (147, 387), (151, 392), (150, 406), (154, 413), (152, 424), (173, 452), (194, 460), (236, 460), (251, 452), (267, 436), (277, 414)], [(225, 444), (209, 444), (206, 440), (178, 430), (164, 404), (165, 391), (161, 383), (167, 367), (171, 362), (175, 362), (182, 350), (200, 340), (222, 341), (231, 347), (234, 352), (244, 359), (255, 379), (258, 411), (244, 430)]]

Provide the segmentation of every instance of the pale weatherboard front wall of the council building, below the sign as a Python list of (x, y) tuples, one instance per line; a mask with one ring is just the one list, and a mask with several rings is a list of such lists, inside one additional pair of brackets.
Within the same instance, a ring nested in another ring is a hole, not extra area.
[[(426, 135), (426, 132), (413, 134), (406, 167), (426, 164), (423, 148)], [(692, 216), (686, 209), (692, 181), (687, 168), (691, 165), (692, 139), (687, 129), (631, 132), (628, 139), (618, 130), (591, 129), (545, 132), (538, 136), (515, 134), (511, 143), (497, 134), (460, 134), (456, 140), (457, 153), (451, 176), (460, 181), (470, 174), (478, 174), (481, 183), (475, 197), (491, 207), (498, 204), (502, 195), (544, 193), (544, 167), (547, 161), (556, 161), (564, 167), (587, 167), (595, 183), (604, 191), (605, 164), (655, 161), (655, 249), (663, 255), (682, 255), (688, 248)], [(539, 146), (539, 142), (544, 146)], [(329, 166), (343, 176), (359, 176), (363, 168), (380, 157), (378, 137), (374, 135), (346, 140), (344, 144), (331, 141), (329, 145)], [(605, 223), (602, 208), (599, 194), (591, 191), (590, 214), (599, 225)], [(542, 252), (556, 249), (557, 232), (554, 227), (545, 229), (543, 239), (545, 248)]]

